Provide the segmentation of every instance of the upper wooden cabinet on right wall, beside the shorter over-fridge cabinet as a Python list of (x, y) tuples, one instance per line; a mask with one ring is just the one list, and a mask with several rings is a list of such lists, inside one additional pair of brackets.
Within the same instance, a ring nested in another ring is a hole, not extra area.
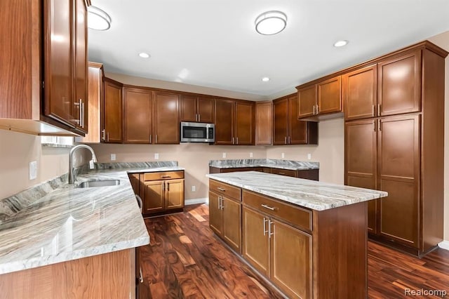
[(297, 95), (273, 101), (273, 145), (318, 144), (318, 124), (297, 119)]

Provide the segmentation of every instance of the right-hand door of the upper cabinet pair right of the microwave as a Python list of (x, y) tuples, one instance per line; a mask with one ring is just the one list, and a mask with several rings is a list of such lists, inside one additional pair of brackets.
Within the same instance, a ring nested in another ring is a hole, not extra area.
[(236, 102), (236, 145), (254, 145), (254, 102)]

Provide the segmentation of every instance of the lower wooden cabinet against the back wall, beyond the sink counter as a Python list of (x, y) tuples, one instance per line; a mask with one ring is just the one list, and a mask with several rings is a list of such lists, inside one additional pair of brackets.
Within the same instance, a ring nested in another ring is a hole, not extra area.
[(142, 198), (145, 215), (170, 213), (184, 208), (184, 171), (140, 173), (130, 175), (133, 190)]

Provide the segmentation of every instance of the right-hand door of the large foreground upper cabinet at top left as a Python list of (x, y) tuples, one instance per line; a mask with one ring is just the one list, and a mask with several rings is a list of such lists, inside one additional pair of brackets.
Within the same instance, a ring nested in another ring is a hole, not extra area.
[[(87, 98), (87, 8), (85, 0), (75, 0), (75, 53), (74, 53), (74, 86), (80, 121), (78, 128), (84, 133), (88, 131), (88, 98)], [(75, 109), (76, 113), (76, 109)]]

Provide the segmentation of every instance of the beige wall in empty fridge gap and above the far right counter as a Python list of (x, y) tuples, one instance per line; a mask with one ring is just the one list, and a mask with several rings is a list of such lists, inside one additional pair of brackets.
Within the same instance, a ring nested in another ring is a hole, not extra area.
[[(318, 145), (286, 145), (267, 147), (268, 159), (320, 162), (320, 181), (344, 183), (344, 120), (320, 121)], [(311, 159), (307, 159), (311, 154)]]

